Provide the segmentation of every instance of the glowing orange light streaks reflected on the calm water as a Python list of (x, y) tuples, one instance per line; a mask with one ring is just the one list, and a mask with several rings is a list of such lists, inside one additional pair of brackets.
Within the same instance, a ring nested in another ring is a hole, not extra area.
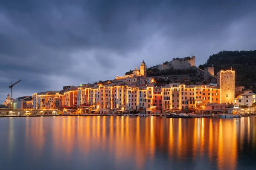
[[(186, 162), (185, 159), (196, 162), (203, 157), (207, 159), (207, 163), (217, 162), (218, 169), (225, 170), (237, 168), (237, 138), (241, 137), (241, 134), (238, 136), (238, 131), (248, 130), (248, 136), (252, 133), (250, 128), (253, 123), (250, 123), (250, 119), (239, 119), (236, 123), (237, 121), (154, 116), (56, 116), (27, 118), (24, 131), (26, 144), (32, 142), (37, 148), (53, 145), (55, 156), (70, 159), (79, 152), (82, 159), (87, 159), (100, 151), (109, 155), (105, 159), (113, 161), (116, 169), (122, 169), (120, 162), (126, 160), (133, 163), (133, 169), (144, 169), (148, 161), (166, 154), (169, 161), (173, 162)], [(13, 126), (10, 122), (10, 140)], [(255, 136), (253, 140), (255, 141)], [(9, 143), (9, 147), (11, 144)], [(43, 151), (37, 150), (37, 154), (40, 155)]]

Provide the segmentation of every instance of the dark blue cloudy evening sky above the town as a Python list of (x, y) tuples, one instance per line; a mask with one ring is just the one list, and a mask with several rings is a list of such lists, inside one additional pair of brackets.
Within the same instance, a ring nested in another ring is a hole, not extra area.
[(114, 79), (145, 60), (256, 50), (255, 0), (0, 0), (0, 103)]

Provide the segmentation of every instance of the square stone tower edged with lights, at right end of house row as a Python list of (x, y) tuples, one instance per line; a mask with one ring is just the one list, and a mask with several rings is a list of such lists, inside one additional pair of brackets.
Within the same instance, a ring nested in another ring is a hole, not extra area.
[(235, 101), (235, 71), (221, 70), (217, 74), (217, 84), (221, 89), (221, 103), (234, 103)]

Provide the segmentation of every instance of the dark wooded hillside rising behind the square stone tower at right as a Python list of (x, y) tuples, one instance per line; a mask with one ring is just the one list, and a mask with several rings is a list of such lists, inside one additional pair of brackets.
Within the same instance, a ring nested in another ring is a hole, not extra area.
[(230, 70), (232, 67), (236, 71), (236, 85), (256, 89), (256, 50), (221, 51), (210, 56), (204, 65), (199, 65), (199, 68), (204, 69), (212, 65), (215, 74), (220, 70)]

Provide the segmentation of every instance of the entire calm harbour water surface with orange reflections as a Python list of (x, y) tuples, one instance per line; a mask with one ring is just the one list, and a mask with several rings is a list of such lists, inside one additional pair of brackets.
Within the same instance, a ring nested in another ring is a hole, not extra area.
[(0, 118), (0, 170), (255, 170), (256, 117)]

